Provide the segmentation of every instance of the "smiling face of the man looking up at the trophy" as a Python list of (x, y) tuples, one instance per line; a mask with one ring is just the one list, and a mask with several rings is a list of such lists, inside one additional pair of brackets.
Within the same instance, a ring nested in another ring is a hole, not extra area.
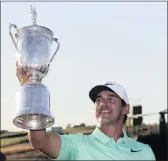
[(96, 119), (103, 125), (118, 123), (123, 113), (121, 98), (111, 91), (102, 91), (95, 101)]

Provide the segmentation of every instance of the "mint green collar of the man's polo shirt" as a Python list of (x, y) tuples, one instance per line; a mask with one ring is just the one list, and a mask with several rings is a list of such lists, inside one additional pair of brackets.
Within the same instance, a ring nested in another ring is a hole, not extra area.
[[(100, 142), (105, 144), (108, 143), (109, 141), (115, 142), (113, 138), (110, 138), (107, 135), (105, 135), (98, 127), (96, 127), (96, 129), (93, 131), (91, 135), (94, 136)], [(127, 134), (122, 130), (122, 137), (120, 137), (116, 143), (123, 143), (126, 138), (127, 138)]]

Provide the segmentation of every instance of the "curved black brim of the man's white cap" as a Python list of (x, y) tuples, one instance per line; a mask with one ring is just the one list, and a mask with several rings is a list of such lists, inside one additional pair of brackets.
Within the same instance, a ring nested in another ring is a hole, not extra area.
[(90, 92), (89, 92), (89, 97), (90, 99), (95, 102), (97, 95), (101, 92), (101, 91), (111, 91), (113, 92), (113, 90), (105, 85), (98, 85), (93, 87)]

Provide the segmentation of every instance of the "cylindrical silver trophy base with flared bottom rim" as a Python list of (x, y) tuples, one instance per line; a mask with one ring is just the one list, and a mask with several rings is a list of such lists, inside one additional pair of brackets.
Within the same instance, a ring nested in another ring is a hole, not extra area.
[(49, 111), (50, 94), (43, 84), (25, 84), (21, 86), (19, 110), (13, 124), (26, 130), (45, 129), (54, 124)]

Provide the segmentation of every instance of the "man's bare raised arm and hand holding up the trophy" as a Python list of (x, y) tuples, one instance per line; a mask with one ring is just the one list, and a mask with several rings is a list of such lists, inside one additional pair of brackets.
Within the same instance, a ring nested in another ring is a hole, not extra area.
[[(21, 66), (16, 63), (16, 75), (21, 83), (29, 82), (31, 77), (28, 72), (24, 72)], [(44, 130), (30, 130), (28, 132), (31, 145), (51, 158), (57, 158), (61, 148), (61, 138), (58, 134), (46, 132)]]

